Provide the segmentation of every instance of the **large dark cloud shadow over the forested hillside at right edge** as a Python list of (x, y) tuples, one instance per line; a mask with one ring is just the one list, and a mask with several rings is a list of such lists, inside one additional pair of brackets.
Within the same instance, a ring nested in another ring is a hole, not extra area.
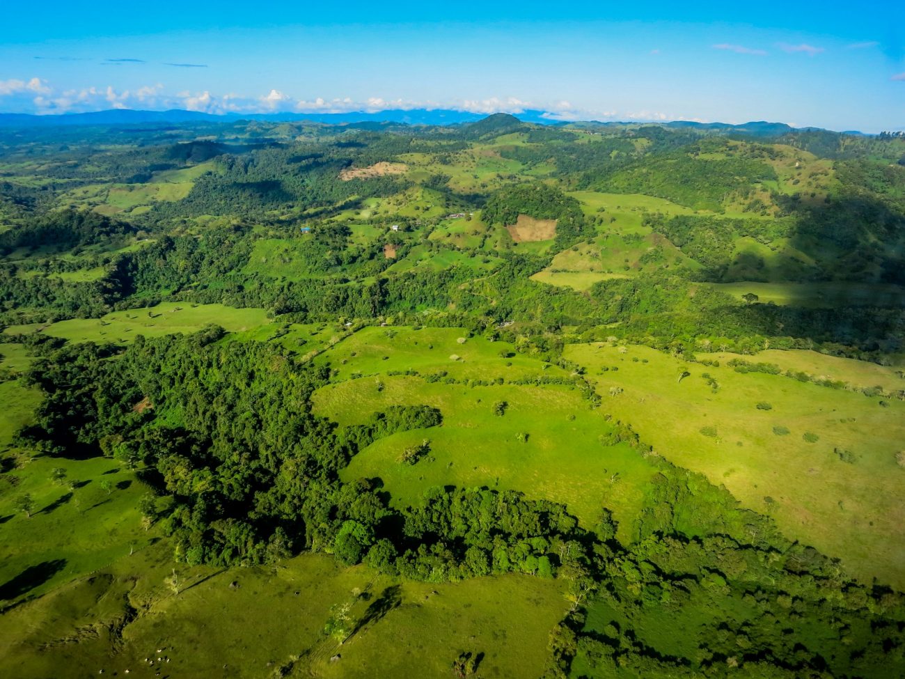
[[(748, 304), (715, 310), (718, 327), (727, 335), (812, 339), (865, 351), (905, 348), (905, 214), (872, 196), (802, 201), (790, 209), (795, 225), (778, 269), (768, 271), (757, 254), (737, 253), (700, 276), (705, 282), (752, 282)], [(760, 279), (758, 270), (765, 272)], [(758, 286), (757, 280), (769, 284)], [(766, 291), (776, 303), (755, 291)]]

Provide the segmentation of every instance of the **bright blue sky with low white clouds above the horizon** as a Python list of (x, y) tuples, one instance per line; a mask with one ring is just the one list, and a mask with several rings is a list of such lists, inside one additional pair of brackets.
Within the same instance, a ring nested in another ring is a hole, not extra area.
[(905, 11), (886, 0), (85, 5), (5, 7), (0, 110), (541, 109), (905, 129)]

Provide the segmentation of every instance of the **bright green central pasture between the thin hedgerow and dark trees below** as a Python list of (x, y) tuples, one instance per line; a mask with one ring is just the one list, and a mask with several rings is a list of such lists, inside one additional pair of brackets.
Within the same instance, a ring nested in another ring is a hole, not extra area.
[[(586, 528), (606, 506), (629, 540), (641, 509), (642, 486), (654, 469), (627, 445), (605, 445), (611, 427), (599, 412), (564, 387), (428, 384), (421, 378), (362, 378), (325, 387), (315, 394), (317, 411), (357, 423), (392, 405), (440, 408), (443, 425), (395, 434), (359, 452), (342, 476), (379, 477), (396, 506), (418, 499), (428, 488), (447, 484), (518, 490), (530, 498), (566, 504)], [(493, 406), (506, 401), (504, 416)], [(527, 441), (519, 435), (528, 435)], [(406, 447), (430, 441), (430, 454), (404, 464)]]

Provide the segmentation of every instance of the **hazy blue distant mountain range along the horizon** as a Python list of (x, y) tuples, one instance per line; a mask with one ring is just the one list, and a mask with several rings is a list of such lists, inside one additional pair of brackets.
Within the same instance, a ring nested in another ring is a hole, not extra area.
[[(495, 114), (500, 116), (502, 114)], [(491, 116), (490, 118), (493, 118)], [(112, 109), (90, 113), (63, 113), (60, 115), (32, 115), (28, 113), (0, 113), (0, 128), (34, 128), (72, 125), (135, 125), (147, 123), (179, 122), (230, 122), (233, 120), (262, 120), (267, 122), (320, 122), (331, 125), (354, 123), (393, 123), (404, 125), (461, 125), (487, 119), (484, 113), (472, 113), (452, 109), (390, 109), (380, 111), (349, 111), (347, 113), (227, 113), (216, 115), (195, 110), (131, 110)], [(671, 122), (625, 121), (600, 122), (598, 120), (571, 122), (555, 120), (547, 111), (525, 110), (519, 113), (521, 122), (542, 125), (569, 126), (576, 128), (594, 127), (637, 127), (638, 125), (662, 125), (666, 128), (691, 128), (701, 131), (735, 131), (754, 136), (772, 137), (786, 134), (794, 129), (814, 130), (820, 128), (793, 128), (782, 122), (753, 121), (740, 125), (722, 122), (692, 122), (673, 120)], [(848, 130), (845, 134), (862, 134)]]

